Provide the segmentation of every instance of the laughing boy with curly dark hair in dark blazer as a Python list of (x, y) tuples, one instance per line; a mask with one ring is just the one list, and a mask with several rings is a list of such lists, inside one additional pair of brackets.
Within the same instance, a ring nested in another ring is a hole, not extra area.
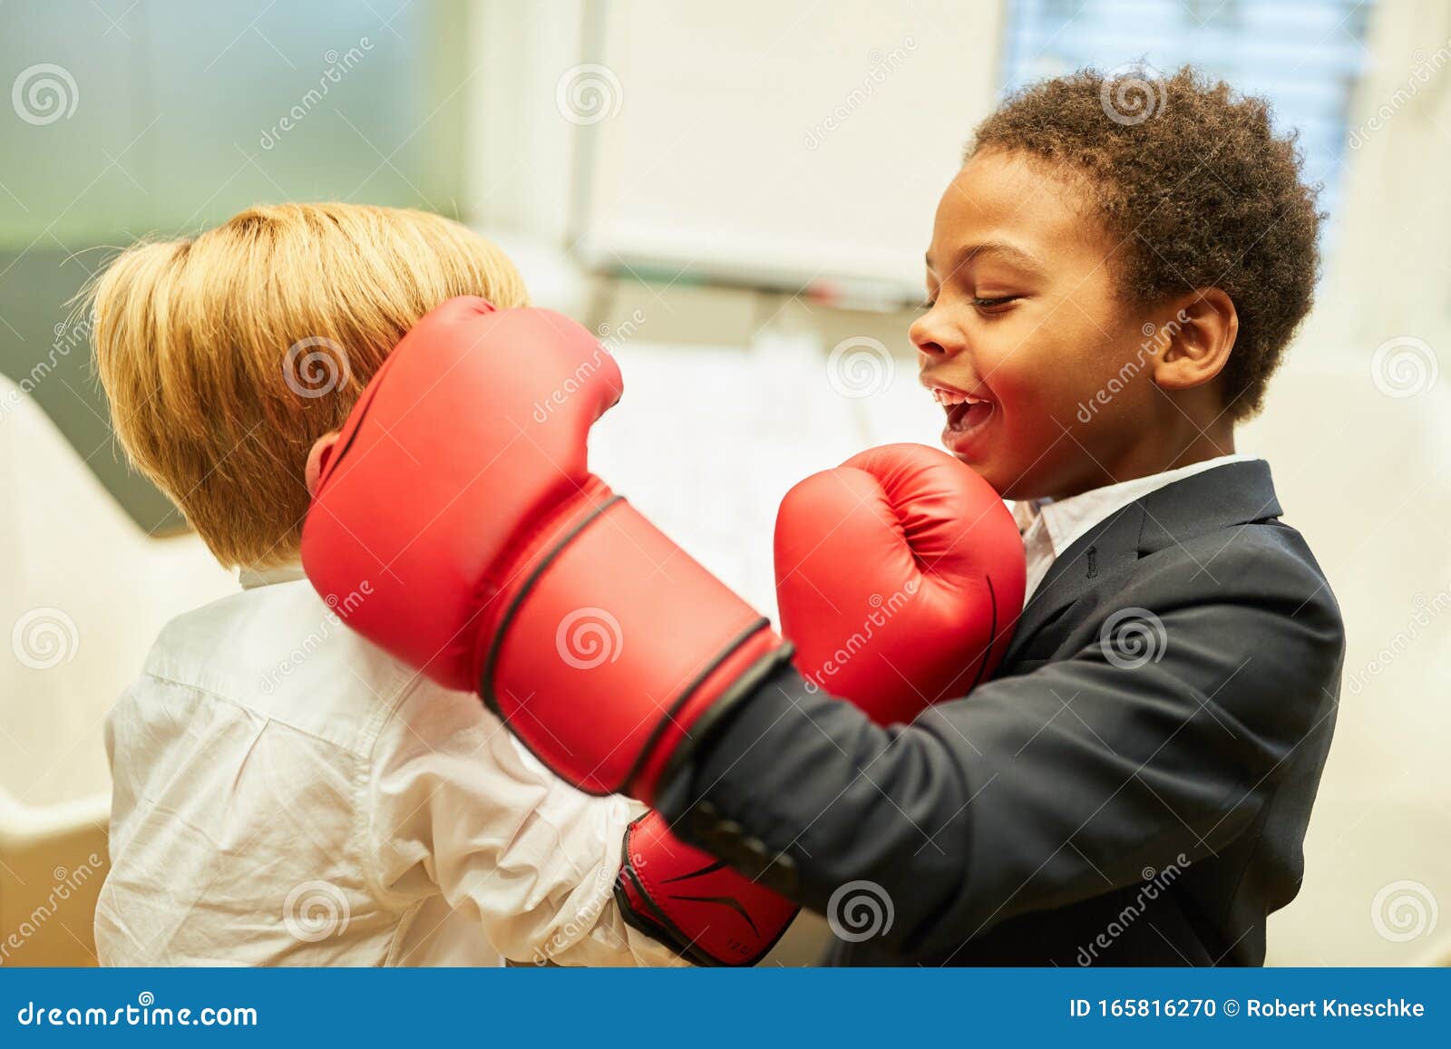
[(837, 963), (1262, 963), (1345, 637), (1235, 424), (1310, 308), (1318, 226), (1268, 106), (1193, 70), (1082, 71), (988, 116), (911, 340), (943, 443), (1017, 501), (1011, 647), (887, 730), (776, 675), (663, 788), (682, 837), (773, 856), (762, 882), (813, 910), (885, 894)]

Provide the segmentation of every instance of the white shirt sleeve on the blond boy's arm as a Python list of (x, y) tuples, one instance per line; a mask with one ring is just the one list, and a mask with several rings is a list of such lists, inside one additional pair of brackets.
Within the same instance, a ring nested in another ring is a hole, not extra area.
[(614, 898), (644, 811), (546, 770), (476, 696), (422, 680), (380, 734), (364, 855), (380, 898), (443, 894), (512, 962), (679, 965)]

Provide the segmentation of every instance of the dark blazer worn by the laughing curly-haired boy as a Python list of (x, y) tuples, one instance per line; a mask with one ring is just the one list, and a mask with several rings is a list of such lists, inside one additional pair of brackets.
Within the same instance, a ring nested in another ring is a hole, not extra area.
[(884, 730), (784, 670), (660, 808), (827, 914), (837, 963), (1259, 965), (1345, 650), (1280, 512), (1259, 460), (1161, 488), (1062, 551), (971, 696)]

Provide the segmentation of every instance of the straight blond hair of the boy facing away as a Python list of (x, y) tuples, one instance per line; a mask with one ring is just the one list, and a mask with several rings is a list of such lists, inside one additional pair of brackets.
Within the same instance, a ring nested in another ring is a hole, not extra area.
[(122, 447), (228, 566), (296, 557), (309, 448), (419, 318), (457, 295), (528, 303), (508, 257), (457, 222), (345, 203), (136, 244), (89, 295)]

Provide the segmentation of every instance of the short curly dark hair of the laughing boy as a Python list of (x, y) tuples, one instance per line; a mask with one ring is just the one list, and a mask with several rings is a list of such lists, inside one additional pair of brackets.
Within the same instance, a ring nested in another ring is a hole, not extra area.
[(1319, 186), (1300, 176), (1294, 132), (1270, 103), (1191, 67), (1080, 70), (1010, 96), (966, 157), (1020, 149), (1078, 176), (1120, 242), (1123, 293), (1155, 302), (1219, 287), (1239, 313), (1222, 373), (1226, 411), (1259, 411), (1286, 344), (1310, 310), (1319, 270)]

